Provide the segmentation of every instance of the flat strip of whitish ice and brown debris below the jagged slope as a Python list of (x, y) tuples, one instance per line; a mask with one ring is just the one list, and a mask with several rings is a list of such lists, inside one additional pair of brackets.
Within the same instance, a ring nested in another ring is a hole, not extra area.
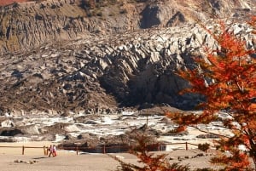
[[(119, 146), (134, 145), (145, 131), (150, 136), (148, 143), (183, 142), (218, 138), (188, 128), (181, 133), (174, 131), (178, 127), (166, 117), (165, 111), (177, 111), (170, 106), (159, 105), (117, 115), (79, 115), (69, 117), (27, 115), (26, 117), (0, 117), (1, 123), (12, 120), (14, 125), (0, 128), (0, 142), (49, 140), (61, 143), (62, 147), (97, 147), (98, 145)], [(184, 111), (185, 112), (185, 111)], [(196, 111), (194, 111), (196, 112)], [(197, 113), (200, 113), (199, 111)], [(224, 113), (223, 113), (224, 114)], [(223, 115), (222, 114), (222, 115)], [(221, 123), (200, 124), (202, 130), (220, 130)], [(69, 149), (71, 150), (71, 149)], [(90, 151), (92, 152), (92, 151)]]

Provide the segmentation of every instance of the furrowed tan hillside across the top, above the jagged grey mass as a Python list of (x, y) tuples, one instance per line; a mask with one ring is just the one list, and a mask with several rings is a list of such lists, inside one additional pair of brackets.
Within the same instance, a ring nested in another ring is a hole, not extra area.
[[(23, 0), (20, 0), (24, 2)], [(19, 2), (19, 0), (17, 1)], [(105, 3), (104, 3), (105, 2)], [(225, 0), (101, 1), (96, 7), (80, 0), (29, 1), (1, 8), (0, 51), (26, 51), (42, 43), (73, 40), (90, 33), (106, 35), (152, 27), (182, 26), (195, 20), (253, 14), (255, 1)]]

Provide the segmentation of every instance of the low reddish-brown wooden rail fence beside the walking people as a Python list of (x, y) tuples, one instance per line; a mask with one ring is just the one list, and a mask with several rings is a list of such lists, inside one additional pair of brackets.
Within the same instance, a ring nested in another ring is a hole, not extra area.
[[(153, 144), (148, 145), (148, 151), (166, 151), (166, 145), (185, 145), (185, 150), (189, 150), (189, 145), (195, 145), (197, 144), (183, 142), (183, 143), (165, 143), (165, 144)], [(49, 147), (43, 146), (0, 146), (0, 148), (20, 148), (21, 154), (25, 155), (26, 149), (42, 149), (44, 152), (44, 156), (49, 155)], [(97, 147), (91, 148), (91, 147), (83, 147), (83, 146), (68, 146), (68, 147), (58, 147), (58, 150), (70, 150), (70, 151), (76, 151), (76, 154), (79, 155), (79, 151), (86, 151), (86, 152), (94, 152), (94, 153), (114, 153), (114, 152), (127, 152), (131, 149), (131, 146), (129, 145), (116, 145), (116, 146), (107, 146), (107, 145), (99, 145)]]

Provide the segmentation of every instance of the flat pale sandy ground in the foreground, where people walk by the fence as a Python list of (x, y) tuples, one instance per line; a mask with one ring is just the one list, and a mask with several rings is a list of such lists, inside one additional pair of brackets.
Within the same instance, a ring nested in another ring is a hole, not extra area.
[[(119, 162), (113, 160), (107, 154), (88, 154), (75, 151), (57, 151), (57, 157), (44, 155), (43, 146), (49, 146), (51, 142), (20, 142), (20, 143), (0, 143), (0, 146), (17, 146), (17, 148), (0, 147), (0, 170), (2, 171), (108, 171), (116, 170)], [(38, 146), (42, 148), (25, 148), (22, 155), (21, 146)], [(177, 151), (156, 151), (155, 154), (165, 152), (170, 162), (180, 162), (189, 164), (191, 168), (207, 168), (211, 164), (208, 162), (212, 153), (204, 154), (202, 157), (195, 157), (202, 153), (198, 150), (177, 150)], [(124, 162), (137, 163), (137, 157), (128, 153), (110, 154), (119, 157)], [(170, 160), (172, 158), (172, 160)], [(22, 161), (22, 162), (21, 162)], [(214, 166), (211, 166), (214, 167)]]

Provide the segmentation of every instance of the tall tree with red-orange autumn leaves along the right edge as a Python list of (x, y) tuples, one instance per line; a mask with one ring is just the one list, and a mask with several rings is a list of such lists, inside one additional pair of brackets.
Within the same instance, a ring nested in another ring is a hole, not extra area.
[[(249, 24), (255, 34), (256, 16)], [(218, 49), (207, 48), (207, 60), (197, 57), (199, 67), (189, 71), (178, 71), (178, 75), (189, 81), (191, 87), (182, 93), (202, 94), (206, 100), (199, 107), (201, 114), (171, 113), (167, 116), (181, 126), (220, 121), (220, 127), (230, 135), (218, 134), (220, 151), (212, 162), (221, 162), (225, 170), (246, 170), (249, 157), (256, 168), (256, 64), (255, 50), (248, 49), (246, 42), (219, 23), (220, 31), (209, 31), (218, 43)], [(255, 41), (255, 39), (253, 40)], [(225, 111), (228, 117), (220, 117)], [(212, 133), (213, 134), (213, 133)], [(246, 147), (241, 151), (240, 146)]]

